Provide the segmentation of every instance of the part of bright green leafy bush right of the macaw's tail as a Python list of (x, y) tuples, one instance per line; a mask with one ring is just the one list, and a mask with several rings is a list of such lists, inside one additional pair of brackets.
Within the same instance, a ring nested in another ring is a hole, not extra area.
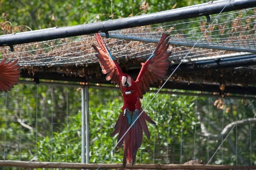
[[(153, 96), (153, 93), (146, 94), (143, 98), (143, 104), (146, 105)], [(150, 146), (146, 151), (149, 154), (146, 155), (152, 155), (147, 158), (149, 160), (147, 163), (152, 163), (153, 154), (150, 154), (150, 152), (154, 149), (156, 155), (162, 155), (158, 156), (155, 163), (163, 163), (163, 160), (165, 160), (165, 163), (179, 162), (179, 157), (170, 158), (170, 155), (177, 154), (180, 142), (184, 140), (182, 138), (183, 135), (191, 134), (188, 137), (192, 138), (193, 133), (190, 132), (193, 129), (192, 122), (194, 123), (195, 120), (194, 100), (195, 97), (190, 96), (158, 94), (148, 106), (146, 112), (153, 117), (157, 124), (155, 127), (150, 126), (151, 131), (154, 132), (154, 142), (157, 146), (153, 148), (153, 141), (146, 141), (149, 142), (147, 145)]]

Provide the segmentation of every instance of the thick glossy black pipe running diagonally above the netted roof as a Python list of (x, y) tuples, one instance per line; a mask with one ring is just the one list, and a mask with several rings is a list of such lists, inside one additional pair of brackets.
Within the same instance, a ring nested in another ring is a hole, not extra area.
[(208, 16), (211, 14), (220, 13), (224, 7), (225, 9), (223, 12), (254, 6), (256, 6), (256, 0), (219, 0), (213, 1), (212, 3), (204, 3), (135, 17), (4, 35), (0, 36), (0, 46), (9, 45), (12, 47), (12, 45), (15, 44), (74, 37), (97, 32), (107, 32), (181, 19), (195, 18), (199, 16)]

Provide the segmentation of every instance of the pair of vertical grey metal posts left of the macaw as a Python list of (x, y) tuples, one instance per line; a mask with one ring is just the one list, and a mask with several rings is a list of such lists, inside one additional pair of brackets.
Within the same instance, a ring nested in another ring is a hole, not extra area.
[(89, 163), (89, 90), (88, 85), (81, 90), (82, 97), (82, 163)]

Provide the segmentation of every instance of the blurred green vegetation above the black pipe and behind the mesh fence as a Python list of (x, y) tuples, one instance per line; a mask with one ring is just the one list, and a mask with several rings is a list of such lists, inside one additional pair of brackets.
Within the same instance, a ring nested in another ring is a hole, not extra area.
[[(22, 32), (125, 18), (203, 2), (206, 1), (0, 0), (0, 23), (2, 28)], [(116, 138), (109, 135), (120, 114), (121, 93), (96, 88), (90, 88), (89, 93), (90, 163), (120, 163), (122, 150), (110, 153)], [(147, 93), (142, 105), (153, 95)], [(143, 138), (137, 163), (184, 163), (191, 159), (207, 163), (221, 140), (200, 135), (202, 126), (219, 134), (227, 124), (253, 117), (254, 107), (255, 102), (239, 99), (159, 94), (146, 109), (157, 125), (149, 125), (151, 139)], [(77, 88), (17, 85), (11, 92), (0, 93), (0, 111), (0, 159), (81, 162), (81, 92)], [(256, 147), (255, 142), (250, 142), (256, 139), (253, 129), (255, 124), (237, 127), (210, 163), (251, 164), (256, 160), (255, 153), (250, 152)]]

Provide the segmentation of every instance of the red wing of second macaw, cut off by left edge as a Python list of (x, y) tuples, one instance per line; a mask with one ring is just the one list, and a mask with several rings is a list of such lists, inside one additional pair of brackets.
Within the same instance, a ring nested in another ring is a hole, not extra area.
[(0, 91), (7, 92), (14, 85), (17, 84), (20, 77), (20, 70), (17, 64), (17, 60), (12, 60), (5, 63), (6, 59), (0, 62)]

